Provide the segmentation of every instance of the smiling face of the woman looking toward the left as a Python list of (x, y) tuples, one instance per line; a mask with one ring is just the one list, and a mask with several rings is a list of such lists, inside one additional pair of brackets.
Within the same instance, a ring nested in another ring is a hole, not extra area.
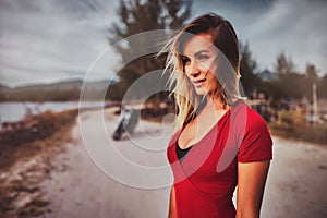
[(211, 95), (219, 85), (215, 73), (218, 70), (218, 49), (209, 34), (198, 34), (185, 43), (182, 62), (184, 73), (198, 95)]

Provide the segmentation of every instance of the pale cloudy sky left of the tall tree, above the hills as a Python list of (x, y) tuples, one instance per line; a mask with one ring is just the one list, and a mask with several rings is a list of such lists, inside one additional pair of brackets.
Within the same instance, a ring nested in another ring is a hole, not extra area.
[(76, 72), (83, 78), (109, 46), (105, 29), (117, 8), (104, 1), (107, 8), (97, 13), (85, 1), (3, 0), (0, 80), (11, 85), (51, 82), (76, 77)]

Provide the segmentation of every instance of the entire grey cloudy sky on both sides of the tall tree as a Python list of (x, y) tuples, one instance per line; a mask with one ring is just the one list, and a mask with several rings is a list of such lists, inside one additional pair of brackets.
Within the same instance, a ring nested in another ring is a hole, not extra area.
[[(0, 82), (84, 78), (109, 46), (106, 29), (118, 21), (118, 0), (0, 0)], [(215, 12), (231, 21), (258, 70), (272, 71), (284, 52), (299, 71), (310, 62), (324, 75), (326, 11), (325, 0), (195, 0), (192, 19)], [(112, 75), (117, 61), (98, 68), (94, 78)]]

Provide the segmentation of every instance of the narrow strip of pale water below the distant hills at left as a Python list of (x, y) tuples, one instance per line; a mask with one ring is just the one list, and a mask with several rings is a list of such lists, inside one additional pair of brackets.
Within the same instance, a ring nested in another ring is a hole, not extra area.
[[(101, 108), (102, 101), (48, 101), (48, 102), (0, 102), (0, 123), (22, 120), (27, 112), (38, 114), (46, 110), (63, 111), (78, 108)], [(107, 104), (107, 102), (106, 102)]]

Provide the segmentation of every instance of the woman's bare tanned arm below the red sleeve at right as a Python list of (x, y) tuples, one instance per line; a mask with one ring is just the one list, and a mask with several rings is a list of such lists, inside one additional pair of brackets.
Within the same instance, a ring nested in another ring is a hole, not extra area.
[(270, 160), (238, 164), (237, 218), (258, 218)]

